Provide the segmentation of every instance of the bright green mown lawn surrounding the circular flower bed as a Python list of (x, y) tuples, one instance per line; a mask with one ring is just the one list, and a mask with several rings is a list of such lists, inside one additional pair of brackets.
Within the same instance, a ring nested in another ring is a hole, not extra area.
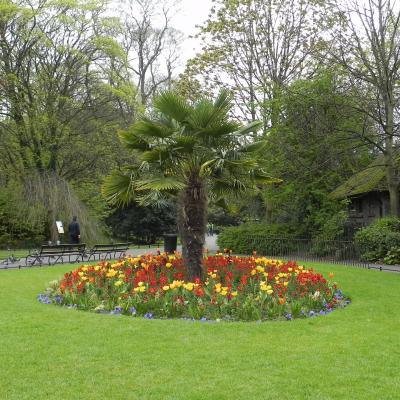
[(0, 271), (0, 399), (398, 399), (400, 274), (318, 265), (352, 297), (291, 322), (142, 320), (36, 301), (68, 266)]

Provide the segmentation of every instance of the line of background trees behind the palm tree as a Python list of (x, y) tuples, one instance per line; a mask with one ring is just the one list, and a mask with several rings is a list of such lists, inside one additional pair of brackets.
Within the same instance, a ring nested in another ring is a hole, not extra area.
[(399, 214), (394, 2), (215, 0), (199, 28), (203, 49), (179, 76), (177, 4), (115, 4), (0, 3), (1, 242), (54, 239), (53, 221), (72, 214), (91, 240), (104, 224), (109, 235), (137, 235), (126, 223), (137, 213), (165, 216), (156, 225), (172, 229), (173, 211), (115, 210), (100, 192), (105, 176), (137, 157), (117, 133), (152, 115), (165, 89), (193, 101), (228, 89), (232, 118), (262, 122), (247, 140), (265, 141), (257, 157), (282, 182), (212, 205), (214, 224), (257, 220), (337, 236), (346, 204), (329, 194), (378, 154)]

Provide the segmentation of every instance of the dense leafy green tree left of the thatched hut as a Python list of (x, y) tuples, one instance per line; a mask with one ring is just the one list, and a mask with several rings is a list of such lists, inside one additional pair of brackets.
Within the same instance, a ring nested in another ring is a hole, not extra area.
[(355, 109), (358, 98), (343, 91), (345, 81), (321, 69), (314, 79), (287, 87), (281, 96), (284, 118), (268, 138), (267, 169), (283, 180), (262, 193), (274, 206), (269, 220), (290, 223), (304, 236), (326, 233), (325, 225), (346, 209), (330, 193), (373, 157), (372, 146), (349, 137), (365, 127)]

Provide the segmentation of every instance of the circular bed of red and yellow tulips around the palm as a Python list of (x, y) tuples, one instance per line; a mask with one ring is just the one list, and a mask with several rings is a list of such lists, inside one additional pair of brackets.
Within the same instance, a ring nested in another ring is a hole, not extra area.
[(296, 262), (217, 254), (204, 258), (203, 281), (185, 281), (184, 271), (178, 254), (84, 265), (51, 282), (38, 299), (99, 313), (202, 321), (291, 320), (350, 302), (334, 282)]

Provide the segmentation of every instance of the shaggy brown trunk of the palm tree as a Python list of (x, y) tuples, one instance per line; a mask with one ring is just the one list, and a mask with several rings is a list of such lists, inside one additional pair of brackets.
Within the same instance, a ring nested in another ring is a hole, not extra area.
[(204, 183), (191, 176), (181, 195), (178, 215), (179, 233), (182, 242), (182, 257), (187, 268), (187, 278), (203, 277), (203, 246), (206, 230), (207, 196)]

